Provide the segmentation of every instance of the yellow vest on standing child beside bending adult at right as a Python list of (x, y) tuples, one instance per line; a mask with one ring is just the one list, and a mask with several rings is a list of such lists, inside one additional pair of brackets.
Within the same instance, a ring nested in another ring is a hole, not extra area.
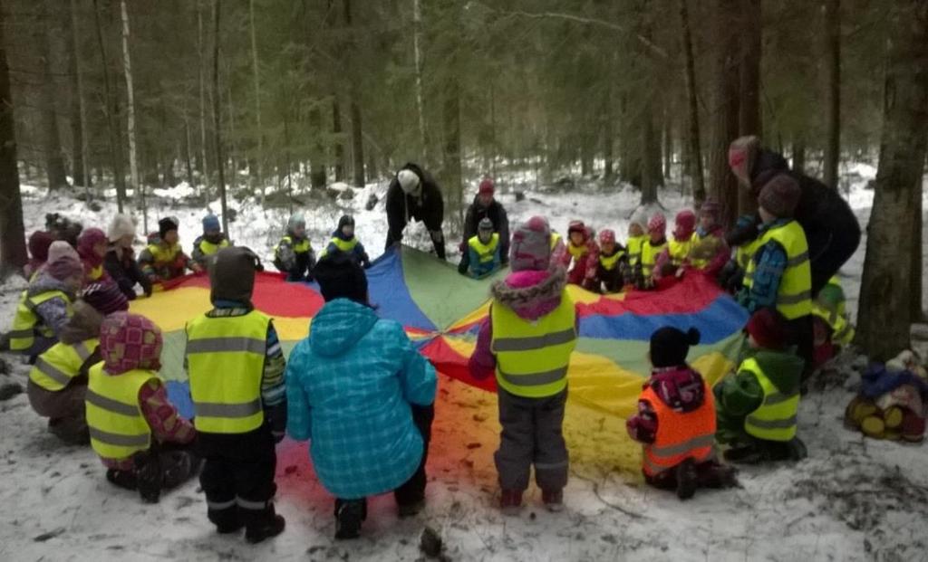
[[(777, 310), (787, 320), (794, 320), (812, 313), (812, 270), (806, 233), (795, 221), (769, 228), (759, 240), (758, 248), (774, 240), (786, 251), (787, 267), (780, 278), (777, 290)], [(748, 263), (744, 275), (744, 287), (754, 286), (756, 257)]]

